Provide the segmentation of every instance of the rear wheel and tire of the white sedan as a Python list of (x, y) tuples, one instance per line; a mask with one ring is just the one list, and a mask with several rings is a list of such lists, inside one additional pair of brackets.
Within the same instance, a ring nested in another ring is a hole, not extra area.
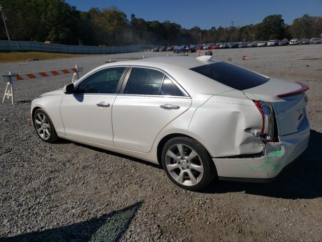
[[(193, 156), (189, 157), (191, 154)], [(176, 137), (165, 144), (162, 166), (174, 184), (191, 191), (205, 188), (217, 176), (208, 151), (198, 141), (187, 137)]]

